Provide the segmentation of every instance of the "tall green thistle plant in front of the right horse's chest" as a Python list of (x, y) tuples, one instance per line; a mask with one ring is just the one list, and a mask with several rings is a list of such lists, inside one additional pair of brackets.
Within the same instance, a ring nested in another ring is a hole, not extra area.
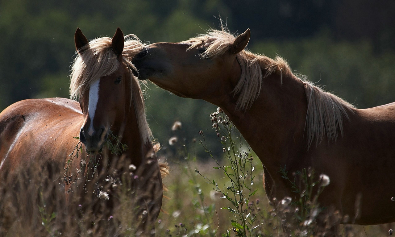
[[(213, 129), (222, 144), (222, 151), (228, 161), (227, 165), (221, 165), (218, 158), (214, 158), (211, 150), (207, 148), (205, 142), (205, 135), (202, 131), (199, 132), (201, 139), (199, 140), (205, 151), (217, 164), (214, 169), (219, 169), (224, 172), (225, 177), (230, 181), (229, 186), (220, 187), (218, 182), (211, 180), (207, 176), (195, 170), (201, 177), (207, 179), (207, 183), (213, 186), (216, 192), (219, 192), (224, 199), (227, 199), (231, 205), (223, 207), (228, 210), (231, 215), (232, 231), (236, 236), (250, 237), (254, 235), (254, 229), (259, 225), (255, 224), (256, 214), (251, 213), (248, 208), (250, 198), (258, 191), (254, 190), (254, 178), (252, 171), (254, 166), (252, 164), (253, 157), (250, 154), (251, 149), (248, 145), (244, 145), (241, 135), (235, 137), (235, 126), (228, 119), (221, 108), (218, 108), (215, 113), (210, 115), (211, 122), (213, 122)], [(222, 162), (221, 162), (222, 163)], [(224, 237), (230, 236), (230, 231), (222, 234)]]

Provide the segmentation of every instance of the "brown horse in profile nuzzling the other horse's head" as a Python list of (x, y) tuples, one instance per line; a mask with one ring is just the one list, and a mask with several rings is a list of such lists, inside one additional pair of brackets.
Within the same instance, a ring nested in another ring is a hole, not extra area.
[(148, 45), (133, 64), (141, 80), (221, 107), (263, 163), (269, 198), (296, 198), (280, 167), (312, 167), (330, 177), (321, 205), (350, 224), (394, 222), (395, 105), (357, 109), (295, 76), (282, 58), (249, 52), (249, 39), (249, 29), (237, 38), (211, 30)]

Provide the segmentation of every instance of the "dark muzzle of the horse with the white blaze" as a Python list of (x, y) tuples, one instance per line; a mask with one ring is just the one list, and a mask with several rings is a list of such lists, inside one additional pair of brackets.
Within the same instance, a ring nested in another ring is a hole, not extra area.
[(89, 134), (84, 128), (81, 128), (79, 139), (85, 144), (87, 150), (100, 150), (103, 147), (105, 139), (107, 139), (105, 131), (105, 127), (100, 126), (98, 130), (94, 130), (92, 134)]

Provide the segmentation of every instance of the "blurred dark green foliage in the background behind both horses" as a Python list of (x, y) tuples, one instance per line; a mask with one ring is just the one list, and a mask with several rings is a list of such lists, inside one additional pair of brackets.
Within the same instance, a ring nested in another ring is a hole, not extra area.
[[(359, 108), (393, 102), (394, 7), (390, 0), (0, 0), (0, 109), (27, 98), (69, 97), (77, 27), (88, 39), (112, 36), (119, 26), (147, 43), (175, 42), (218, 27), (218, 15), (232, 32), (251, 28), (251, 51), (283, 56)], [(186, 141), (208, 127), (213, 105), (149, 88), (147, 118), (160, 143), (166, 146), (175, 120)]]

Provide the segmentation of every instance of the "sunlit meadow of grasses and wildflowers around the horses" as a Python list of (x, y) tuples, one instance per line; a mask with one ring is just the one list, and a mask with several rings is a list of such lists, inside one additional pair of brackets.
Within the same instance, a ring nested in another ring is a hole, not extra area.
[[(262, 164), (233, 124), (219, 108), (208, 114), (207, 120), (211, 120), (212, 127), (204, 132), (196, 131), (190, 145), (186, 145), (182, 123), (176, 121), (169, 128), (172, 136), (168, 143), (161, 145), (157, 152), (160, 162), (167, 164), (168, 168), (163, 173), (164, 200), (155, 224), (155, 236), (331, 236), (329, 226), (350, 218), (340, 216), (335, 210), (329, 211), (325, 216), (328, 228), (318, 229), (316, 218), (325, 209), (316, 197), (330, 185), (330, 177), (310, 169), (288, 174), (286, 167), (279, 167), (278, 175), (289, 180), (301, 198), (270, 202), (262, 184)], [(216, 152), (211, 147), (215, 149), (218, 144), (206, 143), (210, 136), (216, 137), (214, 139), (222, 147), (222, 155), (213, 155)], [(196, 156), (199, 150), (206, 154), (207, 162)], [(138, 223), (132, 220), (137, 209), (134, 199), (130, 198), (133, 191), (122, 188), (122, 182), (124, 187), (127, 182), (111, 181), (113, 187), (120, 186), (117, 187), (118, 195), (110, 197), (118, 198), (120, 202), (113, 213), (104, 211), (95, 215), (93, 205), (84, 209), (86, 204), (78, 204), (80, 199), (75, 199), (68, 207), (75, 206), (75, 209), (66, 210), (61, 193), (51, 205), (46, 203), (45, 197), (53, 188), (61, 190), (63, 179), (48, 182), (45, 170), (40, 167), (36, 167), (33, 173), (13, 180), (11, 188), (1, 186), (0, 233), (7, 233), (5, 224), (8, 218), (19, 217), (19, 222), (12, 224), (6, 236), (52, 237), (75, 236), (76, 233), (77, 236), (113, 236), (113, 233), (115, 236), (145, 236), (134, 231)], [(109, 177), (106, 182), (111, 179)], [(24, 190), (15, 189), (18, 182), (26, 185)], [(100, 200), (100, 208), (106, 208), (107, 199)], [(103, 226), (114, 232), (103, 231)], [(391, 224), (340, 225), (340, 236), (390, 236), (390, 228)]]

